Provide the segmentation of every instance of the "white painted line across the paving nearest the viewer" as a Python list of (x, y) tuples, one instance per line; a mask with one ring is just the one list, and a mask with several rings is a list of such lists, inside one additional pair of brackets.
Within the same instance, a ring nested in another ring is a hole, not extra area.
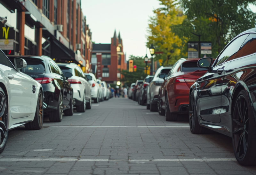
[(79, 161), (79, 162), (209, 162), (209, 161), (236, 161), (235, 158), (195, 158), (195, 159), (134, 159), (134, 160), (110, 160), (110, 159), (77, 159), (77, 158), (1, 158), (0, 162), (12, 162), (12, 161)]

